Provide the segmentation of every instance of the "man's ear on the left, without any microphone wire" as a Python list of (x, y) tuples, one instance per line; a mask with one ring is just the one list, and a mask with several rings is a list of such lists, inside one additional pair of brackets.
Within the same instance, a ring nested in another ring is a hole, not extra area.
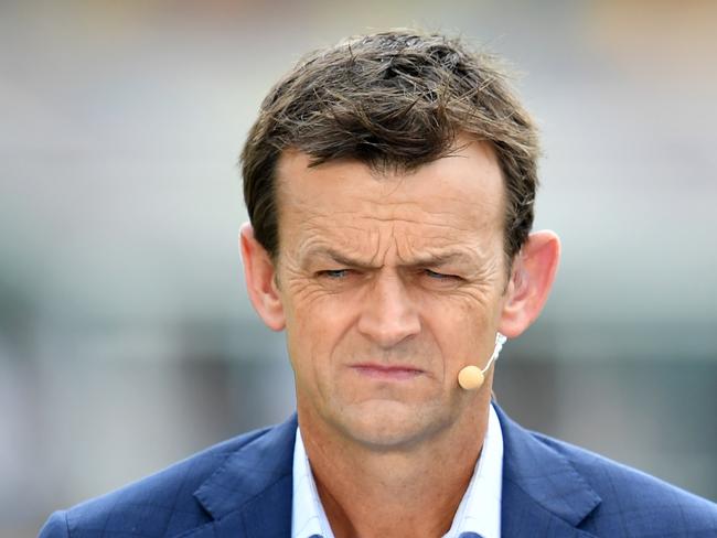
[(244, 277), (249, 300), (259, 318), (272, 331), (285, 326), (283, 304), (276, 283), (276, 269), (269, 252), (254, 237), (249, 223), (239, 230)]

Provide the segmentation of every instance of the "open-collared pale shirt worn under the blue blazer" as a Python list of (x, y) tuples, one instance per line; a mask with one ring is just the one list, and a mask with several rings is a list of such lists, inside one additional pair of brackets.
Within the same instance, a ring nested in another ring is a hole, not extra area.
[[(503, 433), (497, 415), (490, 406), (481, 455), (458, 505), (451, 528), (443, 538), (500, 538), (502, 480)], [(293, 445), (291, 538), (334, 538), (299, 429)]]

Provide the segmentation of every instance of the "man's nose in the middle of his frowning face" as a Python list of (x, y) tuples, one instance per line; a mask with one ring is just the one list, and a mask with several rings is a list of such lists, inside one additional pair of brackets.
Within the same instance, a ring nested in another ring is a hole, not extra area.
[(364, 297), (358, 331), (383, 348), (420, 332), (418, 311), (396, 275), (378, 275)]

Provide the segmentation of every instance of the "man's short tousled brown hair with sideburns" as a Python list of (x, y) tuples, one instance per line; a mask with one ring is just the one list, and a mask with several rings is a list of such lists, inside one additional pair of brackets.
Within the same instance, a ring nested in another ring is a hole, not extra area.
[(446, 157), (456, 137), (492, 143), (505, 181), (507, 266), (533, 226), (536, 127), (500, 62), (460, 40), (396, 30), (314, 51), (271, 88), (242, 152), (256, 239), (279, 249), (276, 165), (297, 149), (312, 165), (355, 159), (410, 171)]

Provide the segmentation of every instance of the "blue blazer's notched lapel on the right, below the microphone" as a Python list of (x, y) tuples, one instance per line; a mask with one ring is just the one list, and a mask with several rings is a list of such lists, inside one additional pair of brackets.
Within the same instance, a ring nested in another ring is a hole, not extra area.
[(494, 406), (503, 432), (501, 535), (592, 536), (577, 525), (600, 504), (598, 494), (565, 456)]

